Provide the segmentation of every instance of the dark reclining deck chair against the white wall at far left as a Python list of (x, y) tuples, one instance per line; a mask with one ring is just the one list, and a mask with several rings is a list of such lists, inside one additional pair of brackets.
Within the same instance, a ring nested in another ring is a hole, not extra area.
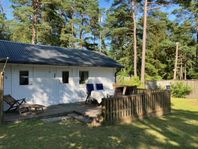
[(16, 100), (11, 95), (3, 96), (3, 100), (10, 106), (6, 112), (11, 111), (11, 110), (16, 111), (19, 109), (20, 105), (22, 105), (23, 103), (26, 103), (25, 98)]

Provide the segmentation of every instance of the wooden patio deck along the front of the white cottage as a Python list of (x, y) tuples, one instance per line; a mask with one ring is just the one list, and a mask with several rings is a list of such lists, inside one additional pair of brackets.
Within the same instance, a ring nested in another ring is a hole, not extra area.
[(18, 112), (10, 112), (4, 113), (4, 122), (17, 122), (21, 120), (27, 119), (46, 119), (46, 118), (53, 118), (53, 117), (61, 117), (73, 114), (75, 115), (87, 117), (90, 119), (95, 119), (99, 117), (102, 113), (102, 107), (96, 105), (88, 105), (84, 102), (78, 103), (69, 103), (69, 104), (59, 104), (59, 105), (52, 105), (49, 107), (44, 108), (44, 112), (42, 113), (31, 113), (31, 114), (23, 114), (20, 115)]

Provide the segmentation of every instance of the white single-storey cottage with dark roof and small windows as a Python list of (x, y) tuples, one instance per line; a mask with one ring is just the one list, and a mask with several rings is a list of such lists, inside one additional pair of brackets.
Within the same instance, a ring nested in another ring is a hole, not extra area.
[[(112, 89), (117, 69), (122, 67), (89, 50), (0, 40), (0, 59), (6, 57), (4, 95), (46, 106), (84, 101), (85, 83), (103, 83), (105, 89)], [(3, 64), (0, 61), (1, 69)]]

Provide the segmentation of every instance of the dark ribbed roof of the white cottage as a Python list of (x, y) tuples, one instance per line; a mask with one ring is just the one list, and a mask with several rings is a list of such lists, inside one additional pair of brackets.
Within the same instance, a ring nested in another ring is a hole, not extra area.
[(8, 63), (18, 64), (123, 67), (104, 54), (85, 49), (66, 49), (0, 40), (0, 58), (6, 57), (9, 57)]

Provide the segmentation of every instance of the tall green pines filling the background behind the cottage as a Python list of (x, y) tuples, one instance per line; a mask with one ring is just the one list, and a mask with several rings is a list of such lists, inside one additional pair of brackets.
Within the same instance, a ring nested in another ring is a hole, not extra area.
[[(119, 75), (140, 77), (144, 2), (113, 0), (104, 9), (98, 0), (10, 0), (13, 18), (0, 5), (0, 39), (100, 51), (125, 66)], [(148, 0), (148, 7), (146, 80), (173, 79), (176, 43), (177, 78), (198, 79), (198, 2)]]

